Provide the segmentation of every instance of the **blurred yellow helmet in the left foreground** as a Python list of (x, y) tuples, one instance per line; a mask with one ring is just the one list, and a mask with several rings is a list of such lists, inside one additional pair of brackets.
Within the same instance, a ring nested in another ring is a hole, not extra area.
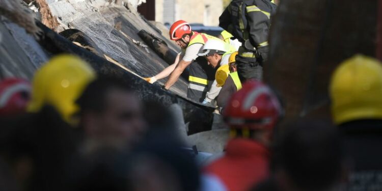
[(69, 54), (53, 57), (34, 76), (28, 111), (36, 113), (49, 104), (64, 121), (75, 125), (73, 114), (79, 109), (75, 101), (95, 77), (93, 68), (80, 58)]

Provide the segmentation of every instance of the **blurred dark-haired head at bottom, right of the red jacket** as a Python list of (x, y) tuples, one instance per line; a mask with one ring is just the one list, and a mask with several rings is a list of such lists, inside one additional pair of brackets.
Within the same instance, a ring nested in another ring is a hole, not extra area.
[(336, 128), (300, 119), (282, 129), (272, 155), (274, 179), (253, 190), (342, 190), (347, 166)]

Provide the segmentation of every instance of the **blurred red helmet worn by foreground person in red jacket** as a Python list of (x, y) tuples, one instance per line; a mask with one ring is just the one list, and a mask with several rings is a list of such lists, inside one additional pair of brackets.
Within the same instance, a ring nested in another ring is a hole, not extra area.
[(260, 81), (248, 81), (232, 95), (223, 112), (231, 128), (272, 129), (282, 114), (281, 104)]

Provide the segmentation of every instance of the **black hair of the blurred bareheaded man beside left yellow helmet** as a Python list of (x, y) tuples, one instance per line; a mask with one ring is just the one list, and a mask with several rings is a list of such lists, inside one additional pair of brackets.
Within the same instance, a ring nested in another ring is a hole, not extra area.
[(102, 112), (106, 107), (106, 96), (111, 90), (132, 92), (129, 84), (120, 78), (101, 75), (92, 81), (77, 99), (80, 111)]

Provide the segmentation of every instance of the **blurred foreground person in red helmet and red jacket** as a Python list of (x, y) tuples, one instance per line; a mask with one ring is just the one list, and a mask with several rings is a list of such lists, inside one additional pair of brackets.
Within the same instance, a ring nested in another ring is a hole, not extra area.
[(266, 178), (268, 147), (281, 113), (278, 98), (267, 86), (259, 81), (244, 84), (223, 111), (232, 139), (225, 155), (205, 168), (206, 180), (220, 182), (227, 190), (244, 191)]

